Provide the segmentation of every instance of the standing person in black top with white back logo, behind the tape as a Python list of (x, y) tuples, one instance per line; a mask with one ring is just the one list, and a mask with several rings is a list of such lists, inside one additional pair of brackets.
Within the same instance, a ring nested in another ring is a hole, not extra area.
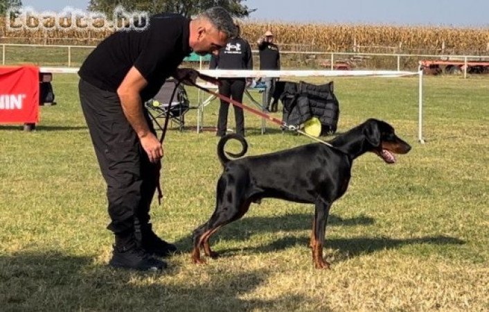
[[(229, 40), (224, 48), (213, 53), (209, 64), (210, 69), (253, 69), (251, 46), (240, 37), (240, 27), (236, 25), (236, 28), (238, 28), (238, 35)], [(221, 78), (219, 93), (242, 103), (246, 85), (246, 78)], [(245, 137), (245, 114), (241, 107), (234, 106), (233, 108), (236, 133)], [(229, 103), (221, 100), (217, 119), (217, 137), (226, 135), (228, 112)]]

